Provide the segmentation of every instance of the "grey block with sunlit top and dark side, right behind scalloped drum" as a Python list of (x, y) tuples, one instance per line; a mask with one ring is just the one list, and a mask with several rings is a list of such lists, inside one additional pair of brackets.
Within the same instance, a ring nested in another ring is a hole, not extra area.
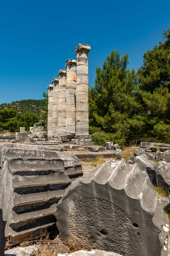
[(150, 181), (153, 184), (156, 184), (156, 173), (155, 173), (155, 169), (154, 169), (154, 164), (142, 155), (135, 157), (134, 161), (135, 161), (135, 163), (138, 163), (139, 168), (142, 171), (147, 172), (147, 174), (149, 175)]

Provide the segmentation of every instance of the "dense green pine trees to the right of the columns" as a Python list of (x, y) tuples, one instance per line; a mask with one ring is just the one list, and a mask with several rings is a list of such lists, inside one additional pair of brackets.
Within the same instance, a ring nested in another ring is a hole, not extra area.
[(144, 53), (137, 72), (127, 68), (128, 54), (107, 56), (96, 68), (89, 91), (90, 131), (120, 133), (126, 144), (145, 141), (170, 143), (170, 29), (164, 42)]

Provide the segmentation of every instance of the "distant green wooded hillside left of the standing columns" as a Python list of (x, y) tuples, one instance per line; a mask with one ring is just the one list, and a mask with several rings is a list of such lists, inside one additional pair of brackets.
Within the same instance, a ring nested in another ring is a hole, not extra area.
[(42, 113), (42, 107), (45, 106), (45, 99), (23, 99), (12, 103), (3, 103), (0, 105), (0, 110), (13, 109), (17, 113), (26, 113), (31, 111), (40, 115)]

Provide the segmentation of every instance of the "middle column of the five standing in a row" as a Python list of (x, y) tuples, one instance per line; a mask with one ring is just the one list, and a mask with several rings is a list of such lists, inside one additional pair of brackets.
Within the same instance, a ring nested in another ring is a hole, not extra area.
[(66, 70), (59, 70), (58, 135), (66, 135)]

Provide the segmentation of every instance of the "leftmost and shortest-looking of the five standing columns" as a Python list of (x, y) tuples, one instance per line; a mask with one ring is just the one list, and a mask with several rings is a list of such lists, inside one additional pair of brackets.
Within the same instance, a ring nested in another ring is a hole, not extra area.
[(53, 125), (53, 85), (48, 85), (48, 137), (52, 137)]

